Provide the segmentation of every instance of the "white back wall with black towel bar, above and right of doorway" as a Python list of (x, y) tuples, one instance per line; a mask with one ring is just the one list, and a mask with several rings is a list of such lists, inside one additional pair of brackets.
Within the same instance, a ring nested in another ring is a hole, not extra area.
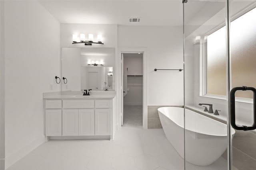
[[(118, 47), (146, 47), (148, 105), (183, 105), (182, 26), (118, 26)], [(118, 92), (118, 91), (117, 91)]]

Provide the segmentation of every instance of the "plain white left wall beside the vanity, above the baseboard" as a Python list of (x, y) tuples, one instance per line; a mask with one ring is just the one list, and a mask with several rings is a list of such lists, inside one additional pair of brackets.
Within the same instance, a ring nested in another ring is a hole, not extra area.
[(60, 23), (37, 1), (4, 5), (8, 167), (44, 142), (42, 94), (60, 90)]

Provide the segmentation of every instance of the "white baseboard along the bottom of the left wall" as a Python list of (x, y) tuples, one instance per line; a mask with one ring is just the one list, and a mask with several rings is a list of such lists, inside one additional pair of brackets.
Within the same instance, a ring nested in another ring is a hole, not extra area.
[(34, 140), (32, 143), (27, 145), (26, 147), (18, 150), (14, 154), (11, 154), (10, 156), (5, 158), (4, 164), (5, 164), (5, 169), (9, 168), (12, 166), (15, 162), (20, 160), (22, 157), (24, 157), (26, 154), (31, 152), (32, 150), (36, 149), (38, 146), (42, 145), (42, 143), (45, 142), (45, 136), (42, 135), (38, 137), (38, 139)]

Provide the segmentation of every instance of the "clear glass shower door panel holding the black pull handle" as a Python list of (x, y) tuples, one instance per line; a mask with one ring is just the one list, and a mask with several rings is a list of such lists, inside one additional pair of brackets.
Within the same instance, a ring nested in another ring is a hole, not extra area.
[(230, 123), (238, 129), (230, 145), (230, 164), (233, 170), (255, 170), (256, 1), (233, 0), (229, 6)]

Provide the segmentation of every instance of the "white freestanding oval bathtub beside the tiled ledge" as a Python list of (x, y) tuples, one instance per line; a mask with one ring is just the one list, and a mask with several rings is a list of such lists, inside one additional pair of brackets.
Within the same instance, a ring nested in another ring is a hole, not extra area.
[[(184, 158), (184, 108), (160, 107), (158, 114), (164, 133)], [(232, 128), (232, 137), (235, 130)], [(185, 109), (185, 159), (199, 166), (215, 162), (227, 149), (227, 125)]]

